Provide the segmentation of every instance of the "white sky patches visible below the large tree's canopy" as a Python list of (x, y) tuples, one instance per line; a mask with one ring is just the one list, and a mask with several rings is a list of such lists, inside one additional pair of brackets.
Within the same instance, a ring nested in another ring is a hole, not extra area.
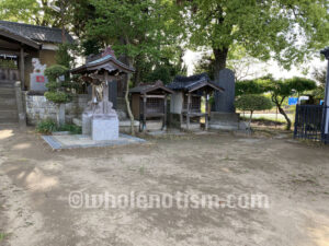
[[(193, 74), (193, 69), (194, 65), (201, 59), (202, 52), (200, 51), (192, 51), (192, 50), (186, 50), (183, 60), (188, 67), (188, 75)], [(287, 78), (293, 78), (293, 77), (307, 77), (311, 79), (311, 71), (313, 68), (315, 67), (325, 67), (327, 62), (324, 60), (320, 60), (319, 58), (315, 58), (309, 61), (309, 63), (302, 65), (302, 69), (297, 69), (296, 67), (292, 67), (292, 69), (285, 70), (281, 68), (275, 61), (269, 61), (265, 66), (265, 63), (261, 66), (256, 66), (253, 69), (253, 72), (257, 73), (257, 77), (264, 75), (266, 73), (272, 73), (275, 79), (287, 79)], [(263, 71), (263, 67), (266, 67), (266, 71)], [(305, 75), (303, 74), (303, 68), (308, 67), (308, 74)], [(253, 78), (246, 78), (246, 79), (253, 79)]]

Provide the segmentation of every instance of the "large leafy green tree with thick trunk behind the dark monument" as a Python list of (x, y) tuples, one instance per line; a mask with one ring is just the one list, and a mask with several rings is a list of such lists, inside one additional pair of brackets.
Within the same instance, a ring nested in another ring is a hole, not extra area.
[[(227, 67), (232, 46), (254, 58), (273, 58), (285, 68), (328, 44), (326, 0), (191, 0), (184, 17), (190, 45), (212, 48), (214, 77)], [(303, 40), (299, 42), (299, 40)]]

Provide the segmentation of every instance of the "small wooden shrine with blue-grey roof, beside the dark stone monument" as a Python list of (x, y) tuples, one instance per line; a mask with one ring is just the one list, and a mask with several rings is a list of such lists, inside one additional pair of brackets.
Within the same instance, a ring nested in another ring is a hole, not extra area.
[[(175, 77), (167, 87), (174, 91), (171, 96), (170, 115), (171, 120), (179, 116), (180, 128), (190, 129), (191, 119), (197, 122), (205, 118), (205, 129), (208, 128), (208, 99), (214, 91), (224, 92), (223, 87), (211, 81), (206, 73), (192, 77)], [(202, 112), (202, 97), (205, 101), (205, 110)]]

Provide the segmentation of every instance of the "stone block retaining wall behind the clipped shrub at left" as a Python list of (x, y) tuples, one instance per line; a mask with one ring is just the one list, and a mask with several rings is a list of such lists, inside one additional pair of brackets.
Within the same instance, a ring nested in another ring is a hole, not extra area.
[[(77, 95), (71, 103), (66, 104), (66, 122), (71, 124), (73, 118), (81, 118), (83, 109), (87, 107), (88, 95)], [(25, 106), (29, 125), (36, 125), (43, 119), (56, 120), (57, 106), (46, 99), (43, 95), (29, 95), (23, 92), (23, 104)]]

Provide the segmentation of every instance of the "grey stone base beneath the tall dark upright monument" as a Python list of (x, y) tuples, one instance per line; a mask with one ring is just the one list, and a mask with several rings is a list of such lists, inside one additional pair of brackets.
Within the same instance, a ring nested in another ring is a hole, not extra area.
[(236, 113), (212, 112), (209, 129), (214, 130), (239, 130), (240, 115)]

